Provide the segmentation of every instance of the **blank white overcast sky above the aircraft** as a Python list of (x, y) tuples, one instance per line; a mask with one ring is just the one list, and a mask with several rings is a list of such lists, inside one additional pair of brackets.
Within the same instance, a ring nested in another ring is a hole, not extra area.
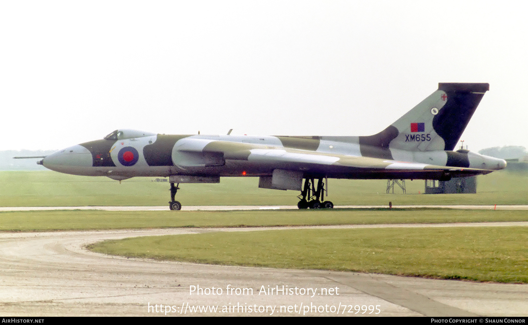
[(438, 82), (488, 82), (469, 149), (528, 147), (510, 1), (3, 1), (0, 150), (118, 128), (372, 135)]

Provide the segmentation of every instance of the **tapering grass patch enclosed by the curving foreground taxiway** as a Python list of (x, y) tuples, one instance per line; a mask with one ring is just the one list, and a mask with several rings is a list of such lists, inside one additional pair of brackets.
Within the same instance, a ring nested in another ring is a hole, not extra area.
[(526, 227), (287, 230), (106, 241), (96, 252), (221, 265), (528, 283)]

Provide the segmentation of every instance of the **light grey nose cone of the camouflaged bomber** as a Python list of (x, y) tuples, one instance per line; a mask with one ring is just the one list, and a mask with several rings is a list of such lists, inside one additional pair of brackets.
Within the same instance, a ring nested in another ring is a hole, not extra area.
[(72, 146), (53, 152), (41, 160), (42, 165), (60, 173), (84, 175), (86, 167), (92, 167), (92, 154), (83, 146)]

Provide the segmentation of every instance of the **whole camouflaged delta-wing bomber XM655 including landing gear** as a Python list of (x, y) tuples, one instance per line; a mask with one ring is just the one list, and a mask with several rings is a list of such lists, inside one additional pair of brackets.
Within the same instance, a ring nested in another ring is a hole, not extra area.
[(328, 178), (449, 180), (505, 168), (502, 159), (453, 151), (487, 90), (488, 83), (439, 83), (438, 90), (372, 136), (162, 135), (121, 129), (31, 158), (73, 175), (169, 177), (171, 210), (181, 209), (175, 200), (180, 183), (219, 183), (221, 176), (258, 176), (261, 188), (300, 191), (299, 209), (332, 208), (324, 200)]

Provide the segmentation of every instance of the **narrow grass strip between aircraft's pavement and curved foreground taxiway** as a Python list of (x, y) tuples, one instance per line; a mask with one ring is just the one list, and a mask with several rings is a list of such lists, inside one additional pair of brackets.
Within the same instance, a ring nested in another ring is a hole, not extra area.
[(265, 211), (0, 212), (0, 231), (107, 230), (166, 227), (269, 227), (395, 223), (528, 221), (526, 211), (333, 209)]

